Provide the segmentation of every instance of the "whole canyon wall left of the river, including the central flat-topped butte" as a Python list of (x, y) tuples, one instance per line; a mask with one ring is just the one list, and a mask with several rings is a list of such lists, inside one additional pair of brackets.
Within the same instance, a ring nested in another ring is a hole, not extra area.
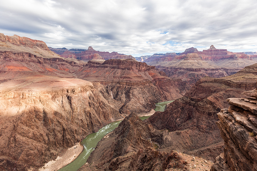
[(37, 170), (108, 123), (185, 93), (181, 80), (155, 67), (89, 51), (87, 63), (43, 41), (0, 34), (1, 170)]

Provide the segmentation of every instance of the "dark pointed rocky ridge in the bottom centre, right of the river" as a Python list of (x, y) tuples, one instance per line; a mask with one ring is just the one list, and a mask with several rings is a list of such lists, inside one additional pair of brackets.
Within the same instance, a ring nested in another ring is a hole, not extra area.
[(79, 170), (185, 170), (177, 153), (156, 150), (156, 137), (160, 137), (158, 131), (131, 113), (97, 144), (88, 164)]

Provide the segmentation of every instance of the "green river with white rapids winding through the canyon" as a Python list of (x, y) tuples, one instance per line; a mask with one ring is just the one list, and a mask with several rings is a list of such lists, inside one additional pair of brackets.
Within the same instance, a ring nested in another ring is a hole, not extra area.
[[(165, 106), (168, 103), (171, 103), (172, 101), (164, 101), (160, 103), (156, 103), (155, 111), (164, 111)], [(142, 121), (144, 119), (147, 119), (150, 116), (143, 116), (140, 117)], [(63, 168), (59, 169), (58, 171), (77, 171), (81, 166), (83, 166), (86, 162), (88, 157), (90, 156), (91, 152), (95, 149), (97, 146), (97, 143), (108, 133), (112, 132), (116, 127), (118, 127), (119, 123), (121, 121), (115, 121), (112, 123), (109, 123), (105, 127), (99, 129), (97, 133), (89, 134), (82, 142), (81, 144), (84, 146), (83, 151), (79, 154), (79, 156), (73, 160), (70, 164), (67, 166), (64, 166)]]

